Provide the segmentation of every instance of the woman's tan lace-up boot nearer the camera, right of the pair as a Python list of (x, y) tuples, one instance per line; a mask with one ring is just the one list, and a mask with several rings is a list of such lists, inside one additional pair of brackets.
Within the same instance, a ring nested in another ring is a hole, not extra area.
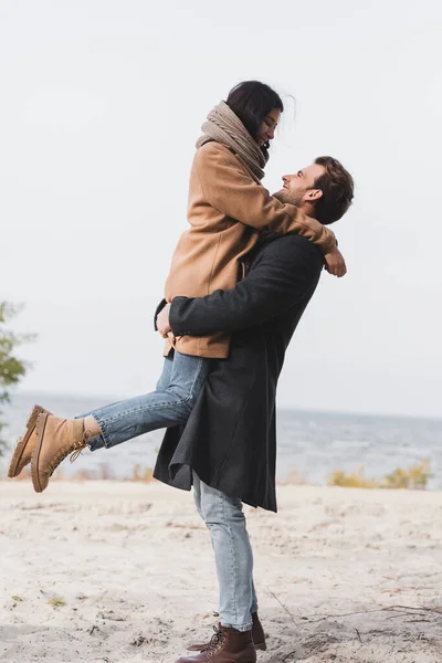
[(32, 454), (31, 472), (35, 493), (42, 493), (53, 472), (72, 453), (75, 461), (86, 449), (92, 435), (84, 430), (84, 419), (59, 419), (48, 413), (36, 420), (36, 446)]

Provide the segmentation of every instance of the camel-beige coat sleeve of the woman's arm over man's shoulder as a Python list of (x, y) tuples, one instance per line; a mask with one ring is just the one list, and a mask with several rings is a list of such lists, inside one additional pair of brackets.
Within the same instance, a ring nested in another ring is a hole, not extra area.
[(296, 233), (327, 254), (337, 244), (332, 230), (303, 214), (295, 206), (273, 198), (248, 175), (239, 158), (224, 145), (209, 143), (200, 148), (193, 167), (207, 202), (222, 214), (259, 230)]

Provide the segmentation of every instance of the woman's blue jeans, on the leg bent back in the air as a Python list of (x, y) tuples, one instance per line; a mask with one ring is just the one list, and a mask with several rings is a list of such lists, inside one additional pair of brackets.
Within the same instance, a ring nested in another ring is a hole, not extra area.
[(209, 369), (210, 359), (175, 351), (165, 359), (155, 391), (83, 414), (92, 414), (102, 431), (90, 441), (91, 450), (109, 449), (143, 433), (186, 423)]

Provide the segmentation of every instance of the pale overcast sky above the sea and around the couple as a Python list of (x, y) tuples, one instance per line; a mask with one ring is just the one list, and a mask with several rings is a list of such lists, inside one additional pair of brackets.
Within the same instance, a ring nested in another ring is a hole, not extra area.
[(259, 78), (287, 102), (265, 186), (322, 154), (357, 182), (348, 275), (324, 274), (280, 406), (441, 415), (441, 44), (436, 0), (0, 0), (0, 299), (39, 335), (21, 389), (154, 387), (200, 125)]

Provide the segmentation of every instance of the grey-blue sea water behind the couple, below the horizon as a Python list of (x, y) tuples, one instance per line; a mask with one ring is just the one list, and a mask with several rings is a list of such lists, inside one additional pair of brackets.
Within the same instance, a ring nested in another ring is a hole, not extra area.
[[(15, 394), (2, 407), (8, 424), (2, 439), (12, 448), (34, 403), (60, 417), (74, 417), (106, 404), (99, 398), (55, 394)], [(63, 463), (67, 475), (88, 470), (99, 476), (103, 466), (115, 478), (133, 475), (134, 467), (152, 467), (164, 431), (155, 431), (110, 450), (84, 452), (74, 463)], [(381, 478), (396, 467), (429, 459), (433, 477), (429, 490), (442, 490), (442, 419), (372, 417), (278, 410), (277, 477), (296, 471), (309, 484), (325, 485), (335, 470), (364, 467), (367, 477)], [(7, 474), (9, 453), (0, 457), (0, 476)]]

